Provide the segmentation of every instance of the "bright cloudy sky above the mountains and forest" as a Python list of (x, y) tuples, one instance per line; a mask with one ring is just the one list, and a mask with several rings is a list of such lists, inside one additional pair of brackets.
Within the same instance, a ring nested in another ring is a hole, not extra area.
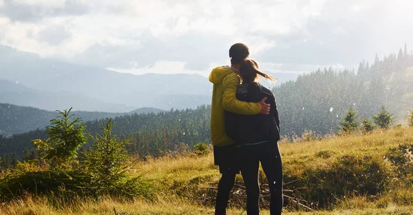
[(410, 0), (0, 0), (0, 44), (132, 74), (207, 76), (246, 43), (262, 70), (357, 68), (413, 49)]

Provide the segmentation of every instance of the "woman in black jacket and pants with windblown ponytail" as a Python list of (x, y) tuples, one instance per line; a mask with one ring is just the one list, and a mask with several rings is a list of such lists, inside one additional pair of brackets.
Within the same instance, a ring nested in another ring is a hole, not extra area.
[(282, 213), (282, 159), (279, 154), (279, 116), (273, 92), (257, 83), (258, 76), (275, 81), (273, 76), (261, 72), (257, 62), (246, 59), (240, 64), (242, 84), (237, 90), (237, 99), (259, 102), (266, 97), (271, 104), (269, 115), (240, 115), (225, 112), (226, 134), (235, 141), (240, 154), (240, 170), (246, 187), (246, 211), (248, 215), (260, 214), (260, 185), (258, 168), (260, 162), (268, 179), (271, 193), (270, 212)]

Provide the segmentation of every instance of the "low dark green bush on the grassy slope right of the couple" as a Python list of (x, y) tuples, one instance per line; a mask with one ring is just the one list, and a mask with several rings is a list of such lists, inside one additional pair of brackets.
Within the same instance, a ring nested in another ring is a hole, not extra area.
[(326, 168), (306, 170), (300, 186), (308, 187), (302, 197), (318, 207), (331, 207), (337, 198), (348, 194), (382, 192), (391, 176), (390, 163), (383, 158), (346, 155)]

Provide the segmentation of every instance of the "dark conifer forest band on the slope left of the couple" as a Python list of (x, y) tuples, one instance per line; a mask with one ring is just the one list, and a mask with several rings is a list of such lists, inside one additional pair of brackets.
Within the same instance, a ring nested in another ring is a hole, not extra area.
[[(113, 132), (122, 138), (131, 137), (134, 144), (128, 145), (131, 154), (140, 156), (160, 156), (179, 147), (191, 147), (197, 143), (210, 142), (209, 105), (201, 105), (195, 110), (169, 110), (158, 114), (129, 114), (117, 116), (112, 120)], [(107, 121), (103, 119), (103, 121)], [(87, 132), (99, 134), (102, 120), (85, 122)], [(0, 135), (0, 157), (6, 159), (3, 165), (10, 164), (14, 158), (25, 160), (35, 156), (33, 139), (46, 139), (46, 130), (35, 130), (11, 137)], [(87, 150), (84, 145), (81, 150)], [(14, 162), (14, 161), (13, 161)]]

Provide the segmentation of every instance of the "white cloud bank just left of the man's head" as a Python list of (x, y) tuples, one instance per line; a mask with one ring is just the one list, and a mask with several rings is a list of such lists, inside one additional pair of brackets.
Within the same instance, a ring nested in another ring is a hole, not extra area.
[[(229, 58), (227, 48), (231, 40), (213, 34), (187, 33), (173, 39), (160, 39), (150, 32), (123, 42), (95, 43), (76, 61), (103, 68), (138, 69), (153, 66), (157, 61), (187, 62), (188, 70), (207, 69), (213, 61)], [(123, 43), (119, 45), (119, 43)], [(214, 45), (211, 45), (214, 44)]]

